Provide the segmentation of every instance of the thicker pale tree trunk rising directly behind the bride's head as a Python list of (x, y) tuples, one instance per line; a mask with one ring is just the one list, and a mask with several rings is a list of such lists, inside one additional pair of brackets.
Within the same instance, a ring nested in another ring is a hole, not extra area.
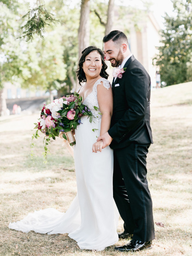
[(90, 25), (89, 25), (89, 14), (90, 14), (90, 0), (81, 0), (81, 16), (79, 22), (79, 58), (81, 52), (89, 46), (90, 37)]

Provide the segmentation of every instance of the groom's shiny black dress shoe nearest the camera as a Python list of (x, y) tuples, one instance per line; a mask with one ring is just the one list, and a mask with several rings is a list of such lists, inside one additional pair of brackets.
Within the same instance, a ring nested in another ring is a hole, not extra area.
[(123, 246), (115, 247), (115, 250), (120, 252), (135, 252), (143, 249), (151, 249), (152, 248), (152, 241), (142, 242), (136, 239), (132, 239), (128, 244)]

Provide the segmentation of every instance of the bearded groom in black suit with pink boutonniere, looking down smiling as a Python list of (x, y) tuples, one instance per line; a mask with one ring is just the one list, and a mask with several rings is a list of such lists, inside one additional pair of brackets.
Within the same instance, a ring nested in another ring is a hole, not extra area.
[(134, 58), (123, 32), (114, 30), (103, 38), (105, 59), (115, 70), (113, 78), (113, 116), (111, 128), (98, 140), (103, 148), (113, 148), (113, 197), (124, 221), (120, 238), (133, 239), (118, 251), (137, 251), (152, 247), (154, 221), (151, 195), (146, 179), (146, 155), (153, 143), (150, 127), (151, 80)]

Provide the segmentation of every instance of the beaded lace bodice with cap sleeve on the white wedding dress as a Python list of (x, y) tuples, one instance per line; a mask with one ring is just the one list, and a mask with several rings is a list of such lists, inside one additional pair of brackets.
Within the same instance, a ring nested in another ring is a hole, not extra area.
[[(100, 109), (99, 109), (99, 103), (97, 100), (97, 85), (101, 84), (101, 82), (103, 82), (103, 86), (109, 90), (109, 88), (111, 86), (110, 81), (108, 81), (105, 78), (100, 78), (95, 82), (95, 84), (93, 85), (92, 92), (84, 99), (84, 102), (83, 102), (83, 104), (86, 105), (90, 109), (90, 111), (93, 114), (93, 118), (95, 118), (95, 119), (102, 118), (102, 115), (99, 114)], [(97, 107), (98, 109), (95, 110), (94, 107)], [(87, 116), (82, 116), (82, 118), (84, 118), (84, 117), (87, 118)]]

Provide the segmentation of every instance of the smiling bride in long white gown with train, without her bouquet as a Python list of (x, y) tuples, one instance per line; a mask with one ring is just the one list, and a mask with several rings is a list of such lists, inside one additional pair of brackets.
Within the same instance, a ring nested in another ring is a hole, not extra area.
[(9, 228), (48, 234), (68, 233), (80, 249), (104, 250), (118, 241), (116, 227), (118, 212), (113, 201), (113, 150), (102, 149), (97, 137), (110, 128), (113, 110), (111, 84), (105, 72), (101, 49), (84, 49), (79, 60), (77, 76), (84, 105), (93, 113), (93, 122), (87, 116), (75, 131), (74, 160), (77, 195), (67, 212), (48, 208), (29, 213), (23, 220), (9, 224)]

